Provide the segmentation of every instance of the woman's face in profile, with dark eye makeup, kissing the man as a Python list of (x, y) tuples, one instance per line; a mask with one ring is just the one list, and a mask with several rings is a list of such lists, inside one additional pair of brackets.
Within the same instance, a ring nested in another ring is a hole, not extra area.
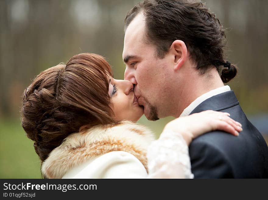
[(132, 89), (133, 85), (130, 81), (109, 79), (111, 108), (118, 121), (129, 120), (136, 122), (143, 115), (143, 107), (139, 106)]

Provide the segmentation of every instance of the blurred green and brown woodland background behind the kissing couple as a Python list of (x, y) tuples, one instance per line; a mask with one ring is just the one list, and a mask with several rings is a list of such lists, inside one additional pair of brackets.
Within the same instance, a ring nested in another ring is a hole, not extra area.
[[(41, 178), (33, 142), (20, 126), (23, 90), (40, 71), (82, 52), (101, 54), (123, 79), (124, 18), (139, 0), (0, 0), (0, 178)], [(207, 0), (227, 29), (228, 83), (268, 141), (268, 1)], [(139, 123), (158, 136), (173, 118)]]

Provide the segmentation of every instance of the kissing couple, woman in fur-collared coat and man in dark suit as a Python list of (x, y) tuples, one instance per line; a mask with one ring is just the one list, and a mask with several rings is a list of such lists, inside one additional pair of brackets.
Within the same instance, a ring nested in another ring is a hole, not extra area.
[[(144, 0), (125, 18), (124, 80), (91, 53), (41, 72), (21, 114), (42, 176), (267, 178), (267, 144), (224, 86), (237, 74), (225, 42), (205, 4)], [(176, 119), (155, 140), (143, 114)]]

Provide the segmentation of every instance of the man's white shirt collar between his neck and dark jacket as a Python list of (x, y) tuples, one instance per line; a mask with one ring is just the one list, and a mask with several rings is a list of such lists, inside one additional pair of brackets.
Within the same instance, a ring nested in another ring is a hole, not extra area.
[(231, 88), (229, 86), (222, 86), (217, 89), (210, 90), (209, 92), (199, 96), (196, 100), (194, 100), (188, 107), (184, 109), (180, 117), (184, 117), (189, 115), (199, 104), (201, 104), (204, 100), (209, 99), (212, 96), (228, 92)]

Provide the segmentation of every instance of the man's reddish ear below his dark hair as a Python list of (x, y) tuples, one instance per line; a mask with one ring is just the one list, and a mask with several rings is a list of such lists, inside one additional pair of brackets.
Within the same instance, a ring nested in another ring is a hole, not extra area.
[(170, 48), (174, 55), (174, 70), (177, 71), (186, 61), (187, 47), (182, 40), (175, 40)]

